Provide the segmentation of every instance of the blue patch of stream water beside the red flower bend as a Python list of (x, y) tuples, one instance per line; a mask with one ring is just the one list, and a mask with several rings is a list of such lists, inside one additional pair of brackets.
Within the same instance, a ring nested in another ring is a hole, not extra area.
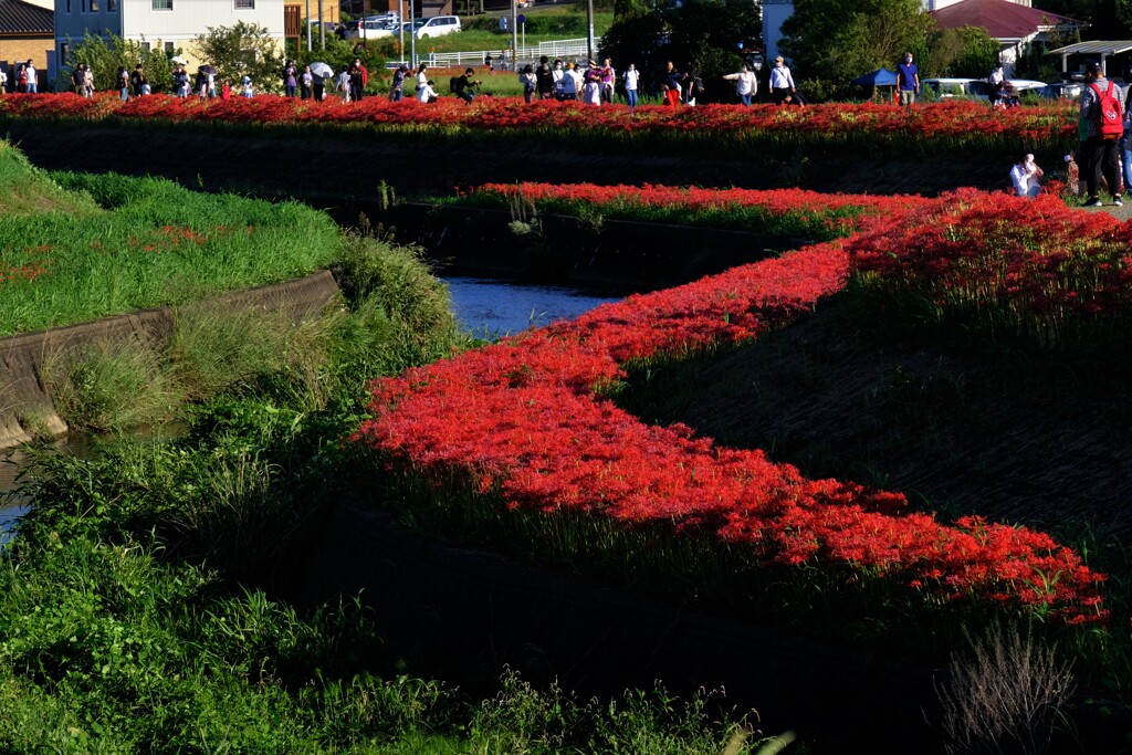
[(492, 278), (446, 277), (452, 311), (473, 336), (495, 341), (529, 327), (571, 319), (620, 297), (551, 285), (521, 285)]

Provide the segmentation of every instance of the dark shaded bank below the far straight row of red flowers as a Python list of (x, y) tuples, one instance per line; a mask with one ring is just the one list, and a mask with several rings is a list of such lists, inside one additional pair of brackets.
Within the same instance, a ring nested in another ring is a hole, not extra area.
[[(957, 161), (950, 155), (625, 154), (365, 134), (252, 139), (233, 131), (112, 123), (8, 121), (3, 129), (34, 164), (50, 170), (155, 174), (192, 188), (314, 204), (375, 197), (383, 181), (402, 196), (520, 180), (934, 195), (959, 186), (1005, 188), (1011, 164), (1009, 157)], [(563, 139), (568, 143), (568, 135)]]

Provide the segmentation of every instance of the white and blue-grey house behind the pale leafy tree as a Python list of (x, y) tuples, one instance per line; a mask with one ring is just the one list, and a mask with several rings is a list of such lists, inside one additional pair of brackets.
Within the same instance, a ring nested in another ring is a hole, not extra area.
[(143, 48), (180, 50), (190, 66), (192, 40), (208, 27), (257, 24), (283, 45), (283, 0), (54, 0), (55, 53), (66, 63), (68, 52), (85, 34), (139, 42)]

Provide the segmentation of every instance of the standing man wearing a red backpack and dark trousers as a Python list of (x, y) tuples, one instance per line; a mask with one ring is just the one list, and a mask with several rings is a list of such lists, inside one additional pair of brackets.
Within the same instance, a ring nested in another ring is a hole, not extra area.
[(1083, 138), (1083, 164), (1089, 198), (1086, 207), (1100, 205), (1100, 175), (1104, 173), (1113, 204), (1124, 203), (1121, 195), (1120, 138), (1124, 132), (1124, 113), (1121, 88), (1105, 78), (1100, 66), (1094, 61), (1084, 65), (1084, 91), (1081, 93), (1079, 131)]

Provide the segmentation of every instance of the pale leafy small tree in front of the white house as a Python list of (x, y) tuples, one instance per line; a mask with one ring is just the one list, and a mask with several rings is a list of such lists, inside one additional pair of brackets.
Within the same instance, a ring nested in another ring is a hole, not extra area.
[(209, 26), (192, 41), (192, 46), (204, 62), (216, 68), (220, 80), (238, 81), (250, 76), (258, 92), (283, 88), (282, 43), (258, 24)]

